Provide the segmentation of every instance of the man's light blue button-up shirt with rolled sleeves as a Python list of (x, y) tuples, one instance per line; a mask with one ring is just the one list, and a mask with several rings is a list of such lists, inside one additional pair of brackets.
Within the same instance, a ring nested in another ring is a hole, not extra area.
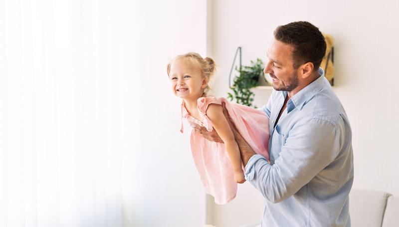
[(269, 117), (270, 164), (260, 155), (245, 179), (265, 198), (262, 227), (350, 227), (352, 132), (323, 70), (287, 102), (275, 91), (262, 109)]

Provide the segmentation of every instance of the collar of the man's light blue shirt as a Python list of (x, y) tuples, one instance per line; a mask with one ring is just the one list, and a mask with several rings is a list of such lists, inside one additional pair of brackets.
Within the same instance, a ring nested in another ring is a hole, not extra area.
[[(317, 92), (323, 88), (324, 84), (324, 71), (319, 67), (319, 78), (310, 83), (308, 86), (302, 88), (298, 93), (291, 97), (288, 102), (291, 102), (298, 109), (302, 109), (303, 105), (309, 101)], [(287, 103), (288, 106), (288, 103)], [(291, 108), (291, 110), (293, 107)], [(289, 110), (290, 111), (290, 110)]]

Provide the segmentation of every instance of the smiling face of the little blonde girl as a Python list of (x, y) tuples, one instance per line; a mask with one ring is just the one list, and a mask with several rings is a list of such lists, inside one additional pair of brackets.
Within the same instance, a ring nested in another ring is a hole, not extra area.
[(207, 86), (206, 78), (202, 76), (200, 68), (185, 58), (172, 62), (169, 79), (173, 93), (185, 100), (197, 100)]

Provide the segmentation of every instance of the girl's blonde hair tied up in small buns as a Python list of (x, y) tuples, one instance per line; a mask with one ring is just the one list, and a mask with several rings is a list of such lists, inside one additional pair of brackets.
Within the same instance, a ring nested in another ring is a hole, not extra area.
[[(196, 52), (188, 52), (185, 54), (181, 54), (176, 56), (168, 65), (167, 65), (167, 70), (168, 70), (168, 76), (170, 76), (170, 72), (171, 72), (171, 65), (172, 62), (177, 60), (177, 59), (188, 59), (191, 61), (191, 63), (193, 65), (198, 66), (204, 77), (206, 77), (207, 81), (209, 82), (209, 80), (213, 77), (215, 70), (216, 70), (216, 64), (215, 61), (210, 58), (210, 57), (205, 57), (202, 58), (200, 54), (196, 53)], [(209, 85), (207, 85), (205, 87), (205, 89), (203, 90), (203, 93), (206, 94), (210, 89)]]

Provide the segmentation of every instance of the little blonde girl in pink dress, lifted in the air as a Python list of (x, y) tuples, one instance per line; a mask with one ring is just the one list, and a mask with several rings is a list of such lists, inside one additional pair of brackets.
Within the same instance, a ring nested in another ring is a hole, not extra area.
[[(213, 128), (223, 143), (212, 142), (195, 130), (191, 132), (191, 151), (207, 194), (215, 203), (225, 204), (234, 199), (236, 183), (244, 183), (241, 157), (233, 132), (223, 115), (222, 102), (238, 132), (257, 154), (269, 159), (268, 117), (259, 110), (240, 104), (229, 104), (225, 98), (207, 95), (208, 81), (215, 71), (215, 63), (198, 53), (179, 55), (168, 64), (168, 75), (174, 94), (182, 98), (182, 118), (195, 124)], [(183, 133), (183, 123), (181, 125)]]

